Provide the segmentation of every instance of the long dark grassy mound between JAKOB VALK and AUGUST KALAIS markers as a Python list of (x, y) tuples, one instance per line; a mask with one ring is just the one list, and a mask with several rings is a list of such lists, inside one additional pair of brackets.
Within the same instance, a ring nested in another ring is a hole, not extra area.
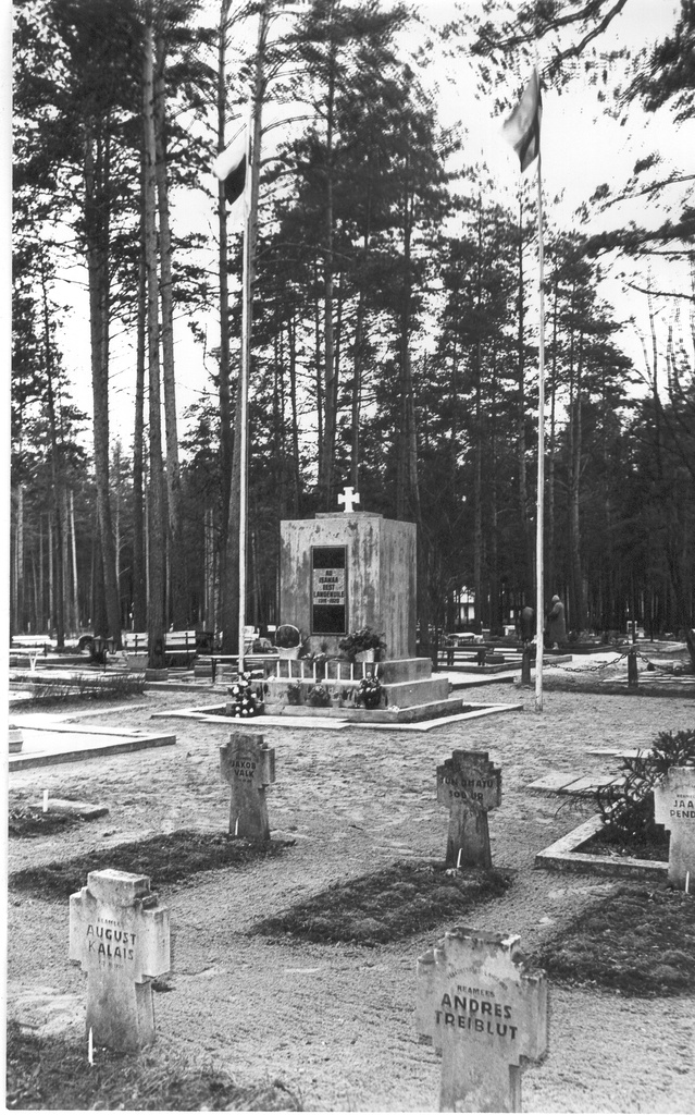
[(10, 875), (10, 888), (37, 898), (66, 899), (87, 883), (90, 871), (130, 871), (149, 875), (153, 891), (177, 883), (199, 871), (244, 867), (256, 860), (281, 855), (293, 841), (252, 844), (227, 833), (200, 833), (192, 828), (150, 836), (133, 844), (92, 849), (71, 860), (25, 867)]

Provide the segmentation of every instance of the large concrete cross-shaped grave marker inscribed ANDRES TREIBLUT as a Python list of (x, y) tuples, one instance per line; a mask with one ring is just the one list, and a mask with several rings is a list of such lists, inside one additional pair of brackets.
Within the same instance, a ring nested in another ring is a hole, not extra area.
[(418, 960), (415, 1025), (442, 1054), (440, 1111), (520, 1112), (521, 1059), (548, 1045), (545, 973), (518, 937), (454, 929)]

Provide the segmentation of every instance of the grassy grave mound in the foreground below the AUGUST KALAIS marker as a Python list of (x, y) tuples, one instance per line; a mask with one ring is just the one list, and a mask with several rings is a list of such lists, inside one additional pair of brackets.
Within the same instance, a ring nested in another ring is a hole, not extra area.
[(147, 1050), (95, 1050), (63, 1036), (38, 1037), (17, 1022), (8, 1026), (9, 1111), (302, 1111), (281, 1080), (238, 1087), (213, 1067)]

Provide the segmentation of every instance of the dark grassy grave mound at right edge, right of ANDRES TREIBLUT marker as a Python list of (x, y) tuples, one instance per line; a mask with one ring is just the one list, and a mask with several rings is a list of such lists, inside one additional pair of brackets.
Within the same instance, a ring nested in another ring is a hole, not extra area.
[(695, 896), (621, 886), (531, 958), (551, 979), (625, 996), (695, 991)]

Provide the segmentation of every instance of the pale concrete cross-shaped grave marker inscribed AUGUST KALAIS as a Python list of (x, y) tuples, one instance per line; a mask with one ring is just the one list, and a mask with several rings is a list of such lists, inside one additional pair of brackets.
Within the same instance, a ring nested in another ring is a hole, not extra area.
[(169, 911), (157, 904), (146, 875), (89, 872), (87, 886), (70, 895), (69, 957), (87, 972), (87, 1032), (95, 1045), (151, 1045), (151, 980), (170, 968)]

